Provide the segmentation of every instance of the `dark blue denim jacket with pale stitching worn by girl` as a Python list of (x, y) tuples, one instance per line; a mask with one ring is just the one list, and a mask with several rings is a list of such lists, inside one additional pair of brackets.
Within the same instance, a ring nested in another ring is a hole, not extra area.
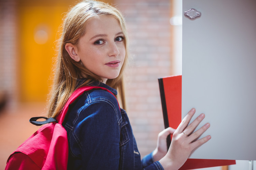
[[(117, 91), (106, 84), (94, 85)], [(160, 170), (152, 153), (142, 161), (124, 109), (102, 89), (86, 91), (69, 106), (63, 126), (69, 142), (68, 169)]]

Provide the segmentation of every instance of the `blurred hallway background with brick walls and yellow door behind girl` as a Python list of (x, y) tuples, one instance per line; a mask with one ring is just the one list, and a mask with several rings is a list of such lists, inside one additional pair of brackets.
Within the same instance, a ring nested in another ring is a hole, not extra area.
[[(117, 7), (127, 23), (127, 113), (143, 157), (164, 129), (158, 78), (182, 71), (182, 1), (102, 1)], [(0, 169), (38, 129), (29, 118), (46, 113), (56, 40), (65, 12), (76, 2), (0, 0)]]

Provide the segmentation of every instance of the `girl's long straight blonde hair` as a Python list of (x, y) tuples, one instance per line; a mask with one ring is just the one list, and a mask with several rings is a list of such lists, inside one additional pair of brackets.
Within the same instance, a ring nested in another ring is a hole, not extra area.
[(71, 8), (66, 14), (63, 22), (63, 31), (59, 40), (54, 83), (52, 91), (49, 94), (48, 117), (58, 116), (72, 92), (77, 88), (79, 82), (78, 79), (86, 77), (86, 81), (80, 85), (80, 87), (89, 85), (93, 81), (102, 81), (98, 75), (86, 69), (80, 62), (75, 62), (65, 49), (67, 43), (73, 45), (78, 44), (79, 38), (85, 33), (86, 23), (90, 18), (97, 15), (113, 16), (119, 21), (120, 27), (124, 33), (126, 55), (123, 67), (121, 68), (118, 77), (109, 79), (106, 84), (118, 90), (120, 99), (122, 100), (122, 106), (123, 108), (126, 107), (123, 74), (128, 58), (128, 37), (124, 18), (116, 8), (107, 3), (85, 0)]

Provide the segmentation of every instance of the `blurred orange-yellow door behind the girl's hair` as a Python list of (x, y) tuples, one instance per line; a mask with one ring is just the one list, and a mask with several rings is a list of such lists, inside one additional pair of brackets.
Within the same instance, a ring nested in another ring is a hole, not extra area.
[[(51, 86), (49, 76), (56, 56), (56, 40), (69, 6), (76, 0), (22, 0), (18, 4), (18, 51), (20, 101), (45, 102)], [(112, 3), (112, 0), (105, 0)]]

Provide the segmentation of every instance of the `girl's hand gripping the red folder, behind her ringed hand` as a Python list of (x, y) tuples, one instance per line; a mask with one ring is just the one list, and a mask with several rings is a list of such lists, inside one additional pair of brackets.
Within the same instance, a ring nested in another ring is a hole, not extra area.
[(175, 129), (166, 128), (158, 134), (156, 149), (153, 151), (154, 161), (160, 160), (167, 153), (167, 143), (166, 138), (168, 135), (173, 134)]

